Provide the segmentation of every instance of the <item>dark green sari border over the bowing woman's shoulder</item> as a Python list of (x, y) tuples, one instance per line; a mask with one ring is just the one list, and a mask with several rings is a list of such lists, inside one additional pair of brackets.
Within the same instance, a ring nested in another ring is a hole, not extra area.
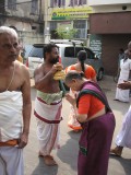
[[(90, 83), (92, 83), (92, 82), (90, 82)], [(91, 90), (90, 88), (82, 90), (79, 93), (79, 96), (76, 98), (76, 106), (79, 106), (79, 101), (80, 101), (81, 96), (83, 96), (84, 94), (91, 94), (91, 95), (97, 97), (106, 106), (106, 112), (111, 112), (111, 108), (108, 104), (106, 95), (103, 93), (102, 89), (96, 83), (92, 83), (92, 84), (95, 85), (100, 92), (96, 92), (95, 90)]]

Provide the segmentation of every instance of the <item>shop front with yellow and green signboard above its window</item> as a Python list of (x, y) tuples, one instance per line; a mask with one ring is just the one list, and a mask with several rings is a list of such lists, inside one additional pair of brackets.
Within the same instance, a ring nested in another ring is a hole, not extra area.
[(86, 40), (88, 31), (88, 14), (91, 7), (53, 9), (50, 21), (51, 38), (56, 37), (55, 32), (61, 28), (63, 32), (75, 30), (76, 39)]

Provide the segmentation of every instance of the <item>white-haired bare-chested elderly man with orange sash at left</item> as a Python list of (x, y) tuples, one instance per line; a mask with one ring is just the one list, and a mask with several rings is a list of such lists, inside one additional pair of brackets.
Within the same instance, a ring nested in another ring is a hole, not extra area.
[(0, 26), (0, 175), (24, 175), (31, 84), (27, 68), (16, 60), (19, 51), (16, 32)]

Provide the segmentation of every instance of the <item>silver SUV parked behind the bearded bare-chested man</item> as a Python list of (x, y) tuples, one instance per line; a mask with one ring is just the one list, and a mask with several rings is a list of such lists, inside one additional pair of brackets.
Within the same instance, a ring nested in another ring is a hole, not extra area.
[[(102, 80), (104, 75), (104, 67), (102, 59), (98, 58), (90, 48), (85, 47), (81, 40), (67, 40), (67, 39), (53, 39), (50, 43), (55, 43), (59, 47), (59, 55), (61, 57), (61, 63), (63, 68), (76, 62), (76, 55), (80, 50), (87, 52), (86, 63), (91, 65), (97, 72), (97, 80)], [(33, 78), (35, 68), (44, 61), (43, 51), (45, 44), (35, 44), (28, 55), (28, 69), (31, 78)]]

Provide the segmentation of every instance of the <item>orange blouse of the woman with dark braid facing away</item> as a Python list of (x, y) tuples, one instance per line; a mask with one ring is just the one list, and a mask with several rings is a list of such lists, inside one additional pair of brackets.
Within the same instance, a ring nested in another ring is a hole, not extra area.
[[(66, 68), (66, 73), (70, 70), (76, 70), (74, 65), (69, 66)], [(96, 72), (92, 66), (87, 66), (87, 69), (84, 72), (86, 79), (93, 79), (96, 77)]]

